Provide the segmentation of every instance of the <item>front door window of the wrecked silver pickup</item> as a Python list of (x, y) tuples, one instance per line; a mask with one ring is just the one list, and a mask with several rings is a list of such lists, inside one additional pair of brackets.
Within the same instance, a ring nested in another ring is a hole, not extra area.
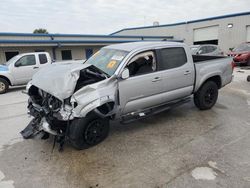
[(133, 57), (126, 66), (130, 77), (156, 71), (156, 58), (153, 51), (143, 52)]

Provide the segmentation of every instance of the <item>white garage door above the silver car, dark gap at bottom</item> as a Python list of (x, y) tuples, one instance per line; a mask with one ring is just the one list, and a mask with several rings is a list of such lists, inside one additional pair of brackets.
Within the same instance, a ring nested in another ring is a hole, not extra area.
[(194, 44), (218, 44), (219, 26), (194, 29)]

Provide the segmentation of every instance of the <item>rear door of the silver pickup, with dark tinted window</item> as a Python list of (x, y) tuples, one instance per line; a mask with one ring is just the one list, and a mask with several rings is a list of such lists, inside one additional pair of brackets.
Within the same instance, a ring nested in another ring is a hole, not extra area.
[(188, 61), (185, 49), (158, 49), (157, 59), (162, 73), (162, 101), (169, 102), (190, 95), (193, 91), (195, 69), (193, 62)]

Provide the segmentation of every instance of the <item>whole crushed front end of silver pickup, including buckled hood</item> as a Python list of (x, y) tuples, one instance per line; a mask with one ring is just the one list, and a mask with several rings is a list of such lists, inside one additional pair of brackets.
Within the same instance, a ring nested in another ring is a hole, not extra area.
[[(89, 64), (47, 66), (33, 76), (26, 90), (28, 113), (33, 119), (21, 131), (23, 138), (38, 135), (46, 139), (53, 135), (54, 141), (60, 143), (59, 149), (65, 141), (76, 140), (78, 132), (74, 130), (79, 120), (84, 121), (92, 114), (99, 119), (113, 118), (116, 111), (116, 77), (111, 78)], [(93, 130), (93, 134), (97, 133)]]

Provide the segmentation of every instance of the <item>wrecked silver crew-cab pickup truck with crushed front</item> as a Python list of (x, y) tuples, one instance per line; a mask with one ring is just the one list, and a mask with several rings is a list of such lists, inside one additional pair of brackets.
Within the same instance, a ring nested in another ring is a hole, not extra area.
[[(28, 84), (24, 138), (55, 135), (77, 149), (103, 141), (109, 121), (129, 123), (190, 101), (214, 106), (232, 80), (232, 58), (192, 56), (183, 43), (136, 42), (102, 48), (85, 63), (56, 63)], [(40, 135), (39, 134), (39, 135)]]

